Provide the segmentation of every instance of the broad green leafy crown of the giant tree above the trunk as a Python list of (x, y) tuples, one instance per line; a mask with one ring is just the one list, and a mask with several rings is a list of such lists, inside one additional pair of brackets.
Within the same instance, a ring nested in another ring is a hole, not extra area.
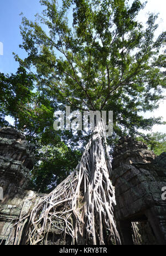
[(15, 55), (34, 67), (38, 88), (64, 107), (113, 110), (117, 135), (161, 124), (139, 115), (157, 109), (165, 88), (159, 49), (166, 34), (154, 40), (157, 15), (149, 14), (144, 28), (136, 21), (144, 7), (138, 0), (131, 6), (125, 0), (40, 2), (45, 11), (35, 22), (23, 17), (20, 47), (28, 57)]

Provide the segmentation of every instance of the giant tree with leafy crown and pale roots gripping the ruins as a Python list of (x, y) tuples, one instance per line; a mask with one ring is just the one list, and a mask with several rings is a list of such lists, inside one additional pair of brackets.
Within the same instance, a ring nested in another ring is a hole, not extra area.
[[(143, 27), (136, 21), (144, 7), (138, 0), (69, 0), (61, 6), (56, 0), (40, 2), (45, 10), (37, 21), (23, 18), (20, 47), (28, 57), (15, 56), (37, 77), (38, 90), (59, 109), (113, 110), (114, 136), (160, 124), (160, 119), (139, 115), (158, 107), (165, 88), (160, 70), (165, 56), (159, 49), (166, 33), (154, 38), (157, 15), (149, 14)], [(29, 213), (24, 243), (43, 243), (52, 228), (72, 244), (120, 244), (110, 174), (100, 122), (76, 170)]]

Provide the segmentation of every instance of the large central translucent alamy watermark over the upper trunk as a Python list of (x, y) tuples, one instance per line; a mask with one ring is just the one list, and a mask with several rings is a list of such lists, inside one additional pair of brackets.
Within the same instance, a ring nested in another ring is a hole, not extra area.
[[(74, 130), (87, 131), (94, 130), (98, 122), (103, 121), (106, 136), (111, 136), (113, 132), (113, 111), (70, 111), (70, 107), (66, 107), (66, 113), (63, 111), (54, 112), (56, 120), (54, 121), (54, 130)], [(83, 122), (82, 122), (83, 121)], [(82, 125), (83, 123), (83, 125)], [(83, 126), (83, 127), (82, 127)], [(83, 129), (82, 129), (83, 128)]]

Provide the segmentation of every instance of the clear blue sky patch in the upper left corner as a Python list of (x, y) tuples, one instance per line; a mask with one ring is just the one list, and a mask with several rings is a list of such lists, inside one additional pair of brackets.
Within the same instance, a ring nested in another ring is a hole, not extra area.
[(0, 55), (0, 72), (15, 73), (18, 63), (15, 62), (12, 52), (22, 58), (26, 53), (19, 48), (22, 43), (19, 26), (23, 12), (28, 19), (34, 19), (37, 12), (42, 11), (39, 0), (0, 0), (0, 42), (3, 43), (3, 56)]

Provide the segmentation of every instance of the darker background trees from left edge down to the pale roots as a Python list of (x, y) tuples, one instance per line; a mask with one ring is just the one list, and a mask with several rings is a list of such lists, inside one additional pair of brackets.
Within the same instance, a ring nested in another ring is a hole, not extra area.
[[(61, 141), (61, 132), (54, 131), (53, 113), (56, 102), (46, 99), (39, 91), (32, 91), (35, 81), (33, 75), (19, 67), (15, 75), (5, 76), (1, 73), (0, 76), (0, 126), (9, 125), (4, 120), (9, 115), (15, 119), (17, 129), (24, 129), (26, 139), (36, 144), (37, 162), (31, 174), (29, 188), (48, 192), (75, 168), (79, 161), (79, 151), (71, 150)], [(69, 137), (70, 135), (68, 139)]]

